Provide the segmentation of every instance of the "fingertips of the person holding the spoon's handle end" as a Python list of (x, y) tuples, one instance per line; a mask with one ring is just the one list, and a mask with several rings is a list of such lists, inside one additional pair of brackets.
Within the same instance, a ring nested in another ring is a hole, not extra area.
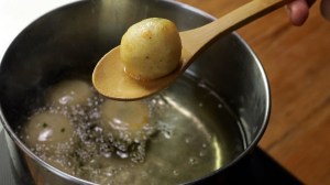
[[(287, 10), (290, 22), (294, 25), (302, 25), (308, 18), (309, 8), (316, 0), (293, 0)], [(330, 20), (330, 0), (321, 0), (320, 11), (323, 18)]]

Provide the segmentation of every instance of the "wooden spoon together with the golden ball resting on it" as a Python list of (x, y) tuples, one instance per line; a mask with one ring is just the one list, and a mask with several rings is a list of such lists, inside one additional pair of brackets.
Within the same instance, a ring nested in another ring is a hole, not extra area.
[(180, 32), (164, 19), (132, 25), (121, 45), (97, 64), (92, 83), (103, 96), (135, 100), (170, 85), (219, 36), (283, 7), (285, 0), (253, 0), (204, 26)]

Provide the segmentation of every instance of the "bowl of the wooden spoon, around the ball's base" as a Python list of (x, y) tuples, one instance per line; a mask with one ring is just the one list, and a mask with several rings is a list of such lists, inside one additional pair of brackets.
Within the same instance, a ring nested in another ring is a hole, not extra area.
[[(109, 65), (108, 62), (111, 61)], [(138, 80), (124, 72), (124, 66), (120, 62), (120, 46), (114, 47), (107, 53), (97, 64), (92, 83), (96, 89), (106, 97), (118, 100), (142, 99), (166, 88), (185, 69), (180, 65), (169, 75), (153, 79)]]

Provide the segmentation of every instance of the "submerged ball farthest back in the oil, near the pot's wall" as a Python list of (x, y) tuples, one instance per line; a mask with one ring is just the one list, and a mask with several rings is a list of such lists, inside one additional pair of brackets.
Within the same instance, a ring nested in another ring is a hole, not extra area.
[(47, 101), (58, 106), (75, 106), (87, 102), (91, 96), (92, 90), (86, 81), (73, 79), (52, 87)]

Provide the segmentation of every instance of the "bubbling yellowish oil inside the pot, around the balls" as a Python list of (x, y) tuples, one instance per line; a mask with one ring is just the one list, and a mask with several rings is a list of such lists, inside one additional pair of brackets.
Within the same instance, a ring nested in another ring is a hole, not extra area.
[(59, 144), (31, 143), (31, 137), (41, 133), (32, 133), (23, 124), (21, 139), (50, 164), (99, 184), (190, 182), (220, 168), (244, 150), (238, 119), (206, 83), (187, 74), (143, 100), (148, 119), (138, 138), (109, 129), (102, 116), (106, 101), (112, 100), (94, 92), (85, 105), (46, 102), (31, 111), (28, 122), (44, 112), (61, 115), (75, 128), (73, 137)]

